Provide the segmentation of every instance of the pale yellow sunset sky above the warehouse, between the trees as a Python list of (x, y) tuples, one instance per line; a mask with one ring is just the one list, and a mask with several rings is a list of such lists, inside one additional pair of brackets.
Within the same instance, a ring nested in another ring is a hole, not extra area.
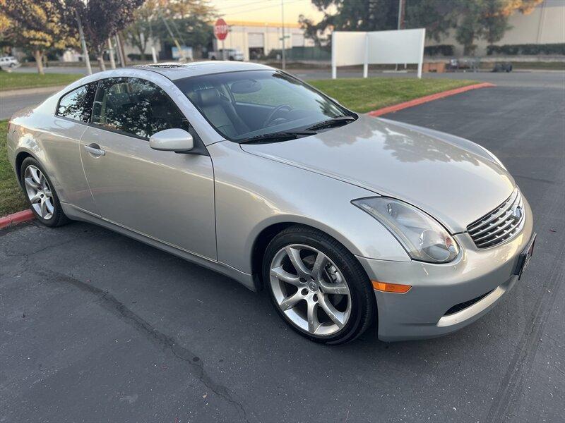
[[(280, 0), (208, 0), (227, 23), (230, 20), (251, 22), (281, 22)], [(318, 22), (323, 13), (319, 12), (310, 0), (284, 0), (285, 23), (298, 23), (302, 14)]]

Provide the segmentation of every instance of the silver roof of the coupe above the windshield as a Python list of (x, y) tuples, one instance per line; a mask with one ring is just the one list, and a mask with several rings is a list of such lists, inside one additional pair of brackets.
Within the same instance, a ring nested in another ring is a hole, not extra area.
[(136, 69), (145, 69), (165, 75), (170, 80), (179, 80), (198, 75), (210, 75), (211, 73), (237, 72), (237, 71), (258, 71), (272, 70), (270, 66), (259, 63), (238, 62), (238, 61), (198, 61), (191, 63), (155, 63), (150, 65), (138, 65)]

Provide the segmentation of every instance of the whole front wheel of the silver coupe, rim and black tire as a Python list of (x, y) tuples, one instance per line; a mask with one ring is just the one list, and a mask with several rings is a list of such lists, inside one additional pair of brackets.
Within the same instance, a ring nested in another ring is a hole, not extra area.
[(361, 264), (314, 228), (292, 226), (273, 238), (263, 259), (263, 281), (278, 314), (312, 341), (352, 341), (376, 314)]

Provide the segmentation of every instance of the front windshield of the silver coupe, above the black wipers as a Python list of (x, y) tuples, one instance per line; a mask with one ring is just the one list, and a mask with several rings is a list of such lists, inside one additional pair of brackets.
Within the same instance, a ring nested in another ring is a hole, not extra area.
[(218, 133), (236, 142), (305, 130), (333, 118), (356, 117), (280, 71), (216, 73), (174, 83)]

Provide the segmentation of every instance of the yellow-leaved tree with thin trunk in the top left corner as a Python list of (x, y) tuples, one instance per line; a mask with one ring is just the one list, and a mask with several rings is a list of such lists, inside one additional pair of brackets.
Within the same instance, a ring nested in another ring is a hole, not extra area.
[(43, 56), (47, 49), (76, 45), (76, 31), (62, 19), (58, 0), (0, 0), (0, 12), (10, 25), (3, 37), (31, 51), (37, 72), (43, 74)]

